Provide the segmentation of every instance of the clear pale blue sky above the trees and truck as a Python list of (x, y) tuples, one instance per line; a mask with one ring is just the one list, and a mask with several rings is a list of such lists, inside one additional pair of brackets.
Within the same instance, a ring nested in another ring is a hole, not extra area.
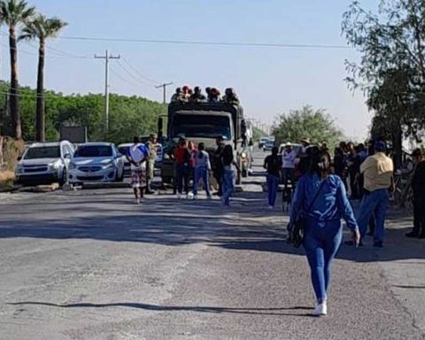
[[(28, 0), (69, 26), (63, 36), (225, 42), (277, 42), (344, 45), (342, 13), (350, 0)], [(362, 2), (375, 7), (375, 1)], [(5, 27), (3, 28), (5, 32)], [(2, 37), (2, 78), (9, 77)], [(92, 57), (109, 49), (155, 81), (213, 85), (237, 90), (248, 116), (271, 123), (304, 104), (324, 108), (346, 135), (367, 135), (370, 114), (360, 94), (344, 83), (344, 59), (354, 50), (222, 47), (137, 42), (52, 40), (50, 47)], [(22, 42), (19, 81), (35, 87), (35, 43)], [(32, 53), (26, 54), (25, 52)], [(104, 90), (104, 64), (94, 58), (57, 58), (50, 50), (46, 87), (64, 93)], [(121, 64), (124, 61), (121, 60)], [(129, 68), (128, 66), (126, 66)], [(118, 73), (118, 75), (117, 75)], [(161, 100), (154, 83), (136, 79), (112, 61), (111, 89)], [(170, 89), (170, 95), (171, 95)]]

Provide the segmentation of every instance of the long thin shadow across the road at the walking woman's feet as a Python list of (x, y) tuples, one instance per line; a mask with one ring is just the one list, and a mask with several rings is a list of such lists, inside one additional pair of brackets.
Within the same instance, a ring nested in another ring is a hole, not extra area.
[(208, 307), (208, 306), (178, 306), (178, 305), (149, 305), (134, 302), (117, 302), (110, 304), (53, 304), (50, 302), (23, 301), (13, 302), (7, 305), (45, 305), (58, 308), (105, 308), (105, 307), (127, 307), (143, 309), (153, 312), (196, 312), (196, 313), (236, 313), (254, 315), (279, 315), (279, 316), (309, 316), (311, 313), (284, 313), (285, 311), (312, 311), (314, 308), (305, 306), (275, 307), (275, 308), (238, 308), (238, 307)]

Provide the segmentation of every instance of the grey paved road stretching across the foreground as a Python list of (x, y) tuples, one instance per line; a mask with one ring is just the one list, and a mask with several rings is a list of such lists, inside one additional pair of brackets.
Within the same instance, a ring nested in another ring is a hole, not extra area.
[[(262, 157), (262, 154), (257, 155)], [(425, 247), (343, 247), (326, 318), (260, 177), (233, 206), (129, 189), (0, 197), (0, 339), (424, 339)], [(398, 219), (396, 219), (398, 218)], [(400, 241), (401, 240), (401, 241)]]

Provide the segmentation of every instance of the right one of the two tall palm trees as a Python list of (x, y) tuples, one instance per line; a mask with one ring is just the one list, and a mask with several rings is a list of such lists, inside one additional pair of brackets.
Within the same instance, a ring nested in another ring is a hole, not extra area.
[(35, 115), (35, 140), (44, 142), (44, 60), (46, 50), (46, 40), (58, 35), (58, 32), (66, 27), (67, 23), (58, 18), (48, 19), (42, 14), (37, 14), (34, 19), (27, 22), (22, 29), (19, 40), (38, 39), (38, 73), (37, 73), (37, 104)]

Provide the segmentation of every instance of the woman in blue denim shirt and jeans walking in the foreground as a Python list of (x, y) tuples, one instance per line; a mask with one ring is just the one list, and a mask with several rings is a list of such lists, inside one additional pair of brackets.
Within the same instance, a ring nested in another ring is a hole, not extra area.
[(352, 230), (359, 244), (359, 228), (340, 177), (330, 174), (328, 153), (313, 151), (310, 170), (298, 182), (290, 213), (290, 228), (303, 217), (303, 246), (311, 268), (316, 308), (313, 315), (328, 313), (328, 287), (331, 265), (343, 237), (341, 220)]

